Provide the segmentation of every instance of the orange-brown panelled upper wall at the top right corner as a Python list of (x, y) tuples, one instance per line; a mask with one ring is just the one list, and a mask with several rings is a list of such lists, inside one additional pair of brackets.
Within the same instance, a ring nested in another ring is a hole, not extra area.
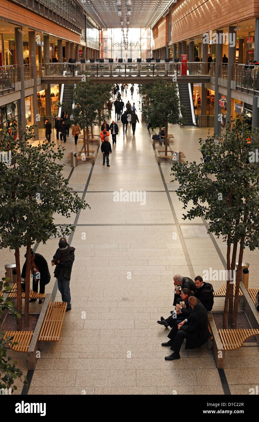
[(180, 0), (172, 9), (172, 42), (258, 16), (257, 0)]

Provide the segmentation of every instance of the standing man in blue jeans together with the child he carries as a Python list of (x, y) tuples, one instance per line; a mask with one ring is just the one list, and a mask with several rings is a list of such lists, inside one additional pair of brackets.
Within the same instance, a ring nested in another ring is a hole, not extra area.
[[(70, 259), (67, 260), (67, 255), (70, 254)], [(59, 256), (60, 255), (60, 256)], [(61, 239), (59, 241), (59, 249), (54, 254), (52, 265), (56, 265), (54, 276), (57, 277), (57, 285), (61, 293), (62, 301), (67, 302), (67, 311), (71, 310), (71, 295), (70, 295), (70, 277), (75, 260), (75, 248), (69, 246), (67, 241)]]

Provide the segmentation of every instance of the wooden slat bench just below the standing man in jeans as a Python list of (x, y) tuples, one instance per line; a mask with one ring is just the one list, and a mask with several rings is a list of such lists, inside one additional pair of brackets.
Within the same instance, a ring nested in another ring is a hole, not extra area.
[(39, 341), (58, 341), (63, 324), (67, 302), (50, 302), (43, 325), (40, 330)]

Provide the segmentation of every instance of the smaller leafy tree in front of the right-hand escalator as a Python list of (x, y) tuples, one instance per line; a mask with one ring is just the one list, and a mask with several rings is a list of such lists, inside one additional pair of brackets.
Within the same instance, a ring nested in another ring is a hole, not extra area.
[[(149, 105), (142, 110), (151, 124), (159, 122), (165, 127), (165, 155), (167, 155), (167, 130), (170, 124), (185, 124), (185, 107), (181, 104), (178, 86), (175, 82), (164, 81), (160, 76), (147, 88)], [(140, 90), (141, 92), (141, 90)]]

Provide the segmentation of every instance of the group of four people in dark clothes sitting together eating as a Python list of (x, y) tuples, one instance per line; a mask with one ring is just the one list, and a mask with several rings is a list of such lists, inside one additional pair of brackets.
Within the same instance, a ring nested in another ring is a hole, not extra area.
[(158, 324), (170, 327), (168, 334), (170, 339), (162, 346), (168, 346), (173, 351), (165, 357), (165, 360), (180, 359), (180, 349), (183, 339), (186, 338), (186, 349), (195, 349), (202, 346), (210, 338), (208, 330), (208, 315), (214, 303), (213, 287), (210, 283), (202, 280), (201, 276), (195, 277), (194, 281), (189, 277), (176, 274), (173, 278), (175, 296), (168, 318), (161, 317)]

